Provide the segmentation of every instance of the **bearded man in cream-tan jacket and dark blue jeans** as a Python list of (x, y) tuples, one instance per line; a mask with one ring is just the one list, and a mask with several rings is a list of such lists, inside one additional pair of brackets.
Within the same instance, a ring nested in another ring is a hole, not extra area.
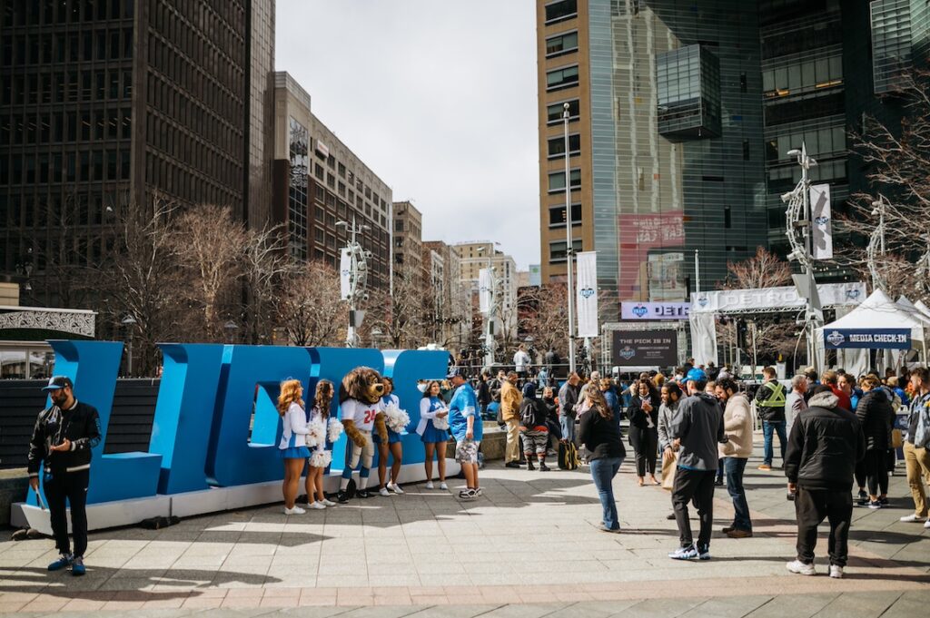
[(714, 393), (724, 403), (724, 433), (727, 441), (718, 446), (724, 459), (726, 491), (733, 499), (733, 525), (724, 528), (724, 533), (733, 539), (752, 536), (750, 506), (746, 502), (743, 488), (743, 471), (752, 454), (752, 413), (750, 401), (745, 393), (739, 392), (737, 383), (728, 377), (717, 382)]

